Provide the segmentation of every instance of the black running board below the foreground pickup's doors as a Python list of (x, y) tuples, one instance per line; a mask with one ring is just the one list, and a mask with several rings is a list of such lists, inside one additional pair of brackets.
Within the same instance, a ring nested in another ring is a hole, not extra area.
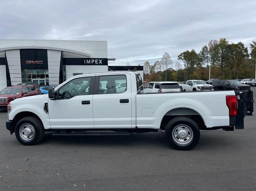
[(71, 132), (71, 133), (53, 133), (54, 136), (128, 136), (132, 135), (130, 132), (91, 132), (91, 133), (83, 133), (83, 132)]

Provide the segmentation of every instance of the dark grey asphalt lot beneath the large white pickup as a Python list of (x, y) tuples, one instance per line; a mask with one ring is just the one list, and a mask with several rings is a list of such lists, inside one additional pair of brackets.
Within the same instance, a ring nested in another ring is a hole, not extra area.
[[(254, 100), (256, 100), (256, 88)], [(56, 137), (23, 146), (0, 112), (0, 190), (255, 191), (256, 102), (244, 130), (202, 130), (189, 151), (168, 146), (164, 134)]]

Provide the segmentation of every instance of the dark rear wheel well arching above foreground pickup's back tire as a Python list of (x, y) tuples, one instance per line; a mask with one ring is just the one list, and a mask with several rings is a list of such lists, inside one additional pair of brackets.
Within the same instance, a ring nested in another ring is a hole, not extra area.
[(200, 129), (206, 128), (206, 126), (204, 124), (204, 120), (198, 112), (196, 112), (195, 110), (192, 110), (190, 108), (176, 108), (176, 109), (168, 111), (164, 115), (164, 117), (162, 118), (162, 121), (161, 121), (160, 129), (165, 129), (166, 125), (168, 124), (168, 122), (170, 120), (172, 120), (175, 117), (179, 117), (179, 116), (188, 117), (188, 118), (194, 120), (194, 122), (196, 122), (196, 124), (198, 125), (198, 127)]

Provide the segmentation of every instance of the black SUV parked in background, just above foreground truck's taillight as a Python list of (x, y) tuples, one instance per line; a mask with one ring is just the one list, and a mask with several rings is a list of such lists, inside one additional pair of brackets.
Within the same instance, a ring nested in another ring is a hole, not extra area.
[(219, 80), (212, 83), (214, 90), (250, 90), (250, 86), (236, 80)]

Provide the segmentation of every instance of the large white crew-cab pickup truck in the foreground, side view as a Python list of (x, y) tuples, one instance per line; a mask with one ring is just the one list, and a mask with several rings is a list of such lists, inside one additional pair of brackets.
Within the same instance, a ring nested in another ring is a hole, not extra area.
[[(120, 81), (126, 87), (117, 91)], [(142, 94), (142, 90), (142, 79), (133, 71), (76, 75), (50, 88), (48, 95), (10, 102), (6, 128), (24, 145), (39, 143), (44, 132), (124, 136), (165, 130), (172, 147), (189, 150), (198, 143), (200, 130), (242, 129), (244, 116), (252, 114), (251, 91)]]

